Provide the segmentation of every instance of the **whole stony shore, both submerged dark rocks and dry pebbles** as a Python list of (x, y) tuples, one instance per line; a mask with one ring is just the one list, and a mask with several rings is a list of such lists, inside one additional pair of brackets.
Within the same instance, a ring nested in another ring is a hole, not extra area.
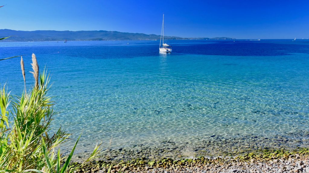
[[(309, 173), (308, 146), (309, 133), (304, 131), (267, 137), (212, 135), (197, 138), (194, 143), (166, 140), (157, 145), (135, 144), (132, 147), (110, 149), (97, 161), (83, 165), (83, 169), (78, 169), (75, 173), (104, 173), (109, 168), (111, 173)], [(78, 161), (75, 158), (76, 160)]]

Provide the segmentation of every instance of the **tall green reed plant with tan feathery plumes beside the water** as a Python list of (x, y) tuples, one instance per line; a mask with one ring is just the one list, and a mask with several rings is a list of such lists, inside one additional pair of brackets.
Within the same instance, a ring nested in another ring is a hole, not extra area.
[[(60, 145), (70, 134), (61, 127), (55, 132), (50, 128), (55, 115), (54, 102), (48, 95), (50, 77), (45, 69), (39, 74), (36, 55), (32, 54), (35, 84), (27, 91), (22, 57), (20, 64), (25, 84), (23, 94), (12, 97), (5, 85), (0, 88), (0, 172), (73, 172), (78, 167), (70, 170), (68, 167), (79, 138), (70, 154), (63, 156)], [(101, 152), (100, 145), (96, 145), (85, 163)]]

